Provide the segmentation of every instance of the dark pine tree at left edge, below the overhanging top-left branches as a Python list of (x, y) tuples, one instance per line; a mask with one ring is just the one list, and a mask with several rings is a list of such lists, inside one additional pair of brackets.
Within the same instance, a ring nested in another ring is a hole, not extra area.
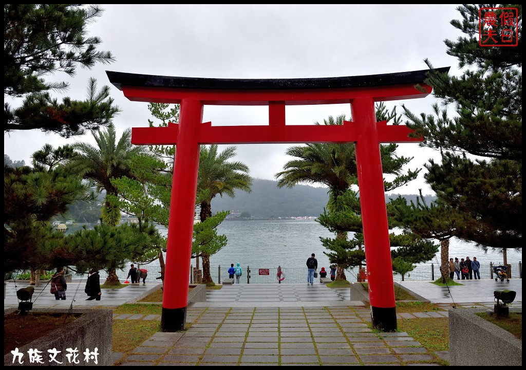
[[(49, 152), (57, 153), (46, 146)], [(39, 153), (39, 152), (37, 152)], [(60, 164), (4, 167), (4, 271), (52, 268), (44, 247), (60, 245), (49, 220), (77, 200), (93, 199), (82, 178)], [(42, 159), (42, 158), (41, 158)]]

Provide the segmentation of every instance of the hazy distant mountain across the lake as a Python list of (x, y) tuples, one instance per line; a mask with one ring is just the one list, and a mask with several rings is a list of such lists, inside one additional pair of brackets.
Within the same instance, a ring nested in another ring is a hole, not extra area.
[[(247, 212), (254, 218), (318, 217), (327, 206), (327, 188), (296, 185), (289, 189), (279, 188), (277, 184), (277, 181), (256, 178), (251, 193), (237, 191), (234, 198), (216, 196), (211, 203), (212, 212)], [(412, 201), (416, 201), (417, 196), (402, 195)], [(386, 195), (386, 202), (396, 197), (398, 194)], [(430, 203), (434, 198), (426, 196), (426, 202)]]

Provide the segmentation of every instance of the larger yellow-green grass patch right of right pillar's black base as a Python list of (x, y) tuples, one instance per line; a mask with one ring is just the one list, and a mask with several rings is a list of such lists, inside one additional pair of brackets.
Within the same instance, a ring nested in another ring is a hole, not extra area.
[(449, 351), (448, 317), (402, 318), (398, 319), (397, 324), (399, 331), (406, 332), (430, 351)]

